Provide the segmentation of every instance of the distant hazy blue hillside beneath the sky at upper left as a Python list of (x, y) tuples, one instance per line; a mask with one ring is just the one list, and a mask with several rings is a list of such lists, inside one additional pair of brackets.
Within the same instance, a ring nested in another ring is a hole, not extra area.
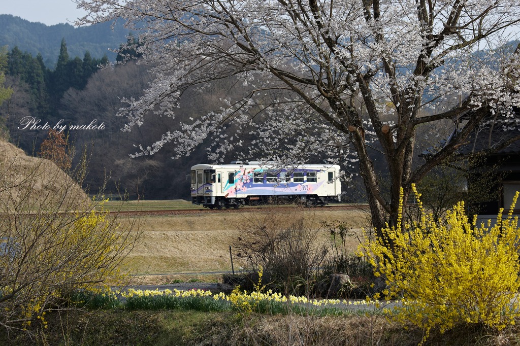
[(83, 58), (85, 51), (93, 57), (107, 55), (115, 60), (115, 53), (109, 49), (118, 48), (126, 42), (128, 30), (122, 24), (110, 28), (111, 23), (102, 23), (74, 28), (71, 24), (45, 25), (34, 23), (12, 15), (0, 15), (0, 46), (9, 49), (18, 46), (21, 51), (28, 51), (33, 56), (42, 54), (48, 68), (54, 69), (60, 52), (61, 39), (67, 41), (71, 57)]

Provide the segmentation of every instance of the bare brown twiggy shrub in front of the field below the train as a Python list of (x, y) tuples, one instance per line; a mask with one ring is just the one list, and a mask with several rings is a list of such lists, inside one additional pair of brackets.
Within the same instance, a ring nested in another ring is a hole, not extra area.
[(264, 209), (237, 224), (240, 236), (231, 241), (235, 256), (251, 273), (262, 268), (268, 288), (309, 294), (328, 250), (320, 230), (304, 216), (301, 207)]

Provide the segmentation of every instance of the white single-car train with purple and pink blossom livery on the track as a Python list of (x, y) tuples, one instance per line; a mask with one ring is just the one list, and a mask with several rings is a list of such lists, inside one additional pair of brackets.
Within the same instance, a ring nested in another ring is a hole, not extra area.
[(301, 203), (323, 206), (341, 202), (340, 166), (301, 164), (280, 168), (277, 163), (233, 161), (191, 167), (192, 204), (206, 208)]

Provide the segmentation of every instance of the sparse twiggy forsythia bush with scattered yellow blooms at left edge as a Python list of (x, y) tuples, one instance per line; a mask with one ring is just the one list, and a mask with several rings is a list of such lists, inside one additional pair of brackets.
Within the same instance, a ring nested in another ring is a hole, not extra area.
[(75, 291), (102, 292), (125, 280), (119, 264), (135, 239), (108, 215), (103, 201), (96, 205), (100, 211), (94, 205), (82, 212), (0, 219), (9, 249), (0, 256), (0, 326), (45, 325), (45, 312), (59, 309)]

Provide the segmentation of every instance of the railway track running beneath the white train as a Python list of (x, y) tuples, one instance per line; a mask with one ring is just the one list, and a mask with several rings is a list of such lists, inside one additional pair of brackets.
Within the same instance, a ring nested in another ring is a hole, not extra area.
[[(170, 210), (114, 210), (109, 211), (114, 215), (136, 215), (136, 216), (168, 216), (168, 215), (201, 215), (201, 214), (222, 214), (232, 212), (251, 212), (259, 209), (274, 208), (275, 206), (246, 206), (239, 209), (170, 209)], [(276, 206), (276, 208), (293, 208), (293, 206)], [(302, 207), (308, 210), (368, 210), (368, 204), (355, 205), (327, 205), (322, 207)]]

